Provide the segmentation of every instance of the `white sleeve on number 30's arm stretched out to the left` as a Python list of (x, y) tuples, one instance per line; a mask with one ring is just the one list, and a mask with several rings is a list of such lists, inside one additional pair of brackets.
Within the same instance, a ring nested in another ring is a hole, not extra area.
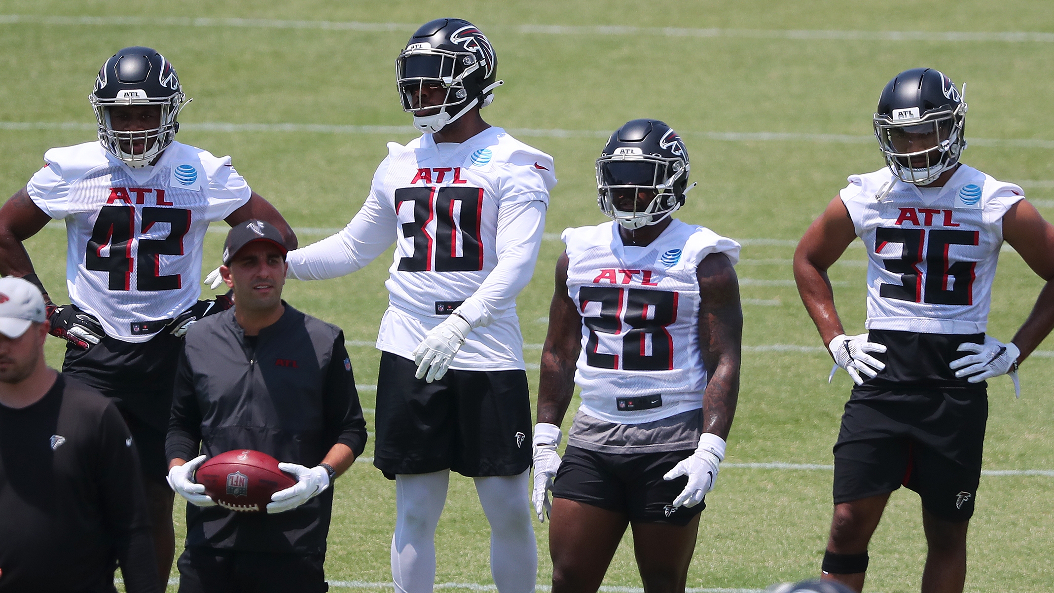
[(340, 232), (289, 252), (286, 278), (327, 280), (364, 268), (395, 243), (398, 221), (372, 191)]

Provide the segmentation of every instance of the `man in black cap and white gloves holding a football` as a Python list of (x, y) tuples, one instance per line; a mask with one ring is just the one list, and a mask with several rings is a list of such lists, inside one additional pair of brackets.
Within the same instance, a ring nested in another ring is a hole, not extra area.
[[(366, 422), (344, 332), (281, 300), (286, 252), (268, 223), (231, 229), (220, 273), (235, 306), (187, 333), (165, 441), (169, 482), (191, 502), (180, 593), (328, 589), (330, 486), (363, 453)], [(267, 513), (223, 509), (193, 481), (206, 458), (239, 448), (297, 478)]]

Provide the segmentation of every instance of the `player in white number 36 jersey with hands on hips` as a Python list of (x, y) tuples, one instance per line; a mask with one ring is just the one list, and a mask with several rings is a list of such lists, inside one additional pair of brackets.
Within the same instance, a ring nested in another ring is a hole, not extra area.
[[(964, 87), (964, 85), (963, 85)], [(886, 167), (852, 175), (795, 252), (798, 291), (855, 386), (835, 444), (823, 576), (860, 591), (890, 493), (922, 499), (923, 592), (962, 591), (980, 480), (985, 380), (1009, 374), (1054, 325), (1054, 227), (1021, 188), (959, 162), (967, 103), (932, 69), (898, 74), (874, 116)], [(867, 250), (867, 332), (846, 336), (827, 269)], [(1003, 241), (1047, 285), (1010, 342), (985, 333)]]

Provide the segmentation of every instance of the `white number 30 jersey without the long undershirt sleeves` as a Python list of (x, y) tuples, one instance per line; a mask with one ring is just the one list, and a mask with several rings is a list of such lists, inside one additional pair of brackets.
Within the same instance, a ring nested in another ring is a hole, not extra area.
[[(425, 332), (472, 296), (497, 265), (499, 208), (548, 205), (557, 177), (551, 156), (501, 128), (461, 144), (436, 145), (424, 134), (406, 146), (389, 142), (388, 151), (371, 188), (397, 219), (377, 348), (412, 358)], [(515, 306), (474, 328), (450, 367), (523, 369)]]

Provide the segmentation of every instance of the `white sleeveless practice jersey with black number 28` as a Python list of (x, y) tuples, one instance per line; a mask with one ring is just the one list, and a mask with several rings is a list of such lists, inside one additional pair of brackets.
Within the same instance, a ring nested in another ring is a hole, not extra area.
[(563, 240), (567, 294), (583, 320), (580, 409), (639, 424), (702, 407), (696, 272), (710, 253), (735, 265), (739, 244), (678, 219), (646, 247), (624, 246), (613, 222), (566, 229)]

